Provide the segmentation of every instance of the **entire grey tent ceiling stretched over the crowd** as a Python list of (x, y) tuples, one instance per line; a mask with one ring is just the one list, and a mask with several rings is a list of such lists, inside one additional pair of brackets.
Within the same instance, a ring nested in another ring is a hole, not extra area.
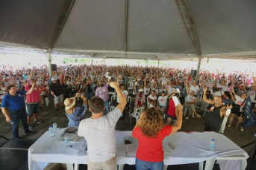
[[(184, 1), (192, 20), (184, 17)], [(192, 21), (202, 56), (255, 59), (255, 9), (255, 0), (1, 0), (0, 46), (9, 42), (75, 55), (185, 59), (198, 55)]]

